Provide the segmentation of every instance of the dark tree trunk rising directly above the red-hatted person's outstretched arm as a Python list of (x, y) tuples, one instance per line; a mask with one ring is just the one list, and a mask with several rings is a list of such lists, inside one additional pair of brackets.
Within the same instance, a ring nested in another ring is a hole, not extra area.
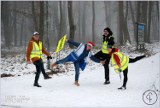
[[(72, 1), (68, 1), (68, 20), (69, 20), (69, 31), (70, 31), (70, 40), (74, 40), (74, 33), (75, 33), (75, 25), (73, 19), (73, 12), (72, 12)], [(70, 45), (70, 48), (73, 48)]]

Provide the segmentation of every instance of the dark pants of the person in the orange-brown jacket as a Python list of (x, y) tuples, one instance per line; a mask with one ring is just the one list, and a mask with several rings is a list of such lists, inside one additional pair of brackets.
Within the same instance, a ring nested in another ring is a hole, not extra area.
[(36, 66), (36, 70), (37, 70), (34, 82), (38, 83), (40, 72), (42, 71), (42, 74), (44, 77), (47, 76), (47, 74), (45, 73), (43, 62), (41, 60), (35, 61), (34, 65)]

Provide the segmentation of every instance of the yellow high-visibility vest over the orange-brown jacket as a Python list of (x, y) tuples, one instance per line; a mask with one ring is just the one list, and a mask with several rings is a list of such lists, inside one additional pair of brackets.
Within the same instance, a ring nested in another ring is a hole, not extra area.
[(38, 57), (42, 59), (42, 42), (39, 41), (39, 46), (36, 42), (33, 42), (33, 48), (31, 51), (30, 58)]

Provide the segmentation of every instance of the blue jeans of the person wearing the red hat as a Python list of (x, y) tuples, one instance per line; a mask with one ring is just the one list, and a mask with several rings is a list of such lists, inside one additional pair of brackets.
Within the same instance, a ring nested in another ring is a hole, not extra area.
[[(61, 59), (59, 61), (56, 62), (56, 64), (63, 64), (63, 63), (66, 63), (66, 62), (70, 62), (70, 58), (69, 56), (67, 56), (66, 58), (64, 59)], [(75, 68), (75, 80), (79, 80), (79, 66), (80, 63), (79, 62), (74, 62), (74, 68)]]

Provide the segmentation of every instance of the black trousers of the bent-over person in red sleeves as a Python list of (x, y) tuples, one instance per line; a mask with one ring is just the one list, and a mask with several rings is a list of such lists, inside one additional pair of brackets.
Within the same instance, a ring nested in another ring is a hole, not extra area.
[[(142, 59), (142, 58), (144, 58), (145, 57), (145, 55), (143, 55), (143, 56), (138, 56), (138, 57), (136, 57), (136, 58), (134, 58), (134, 59), (132, 59), (132, 58), (129, 58), (129, 63), (134, 63), (134, 62), (136, 62), (136, 61), (138, 61), (138, 60), (140, 60), (140, 59)], [(128, 67), (123, 71), (123, 76), (124, 76), (124, 79), (123, 79), (123, 87), (126, 87), (126, 84), (127, 84), (127, 81), (128, 81)]]

